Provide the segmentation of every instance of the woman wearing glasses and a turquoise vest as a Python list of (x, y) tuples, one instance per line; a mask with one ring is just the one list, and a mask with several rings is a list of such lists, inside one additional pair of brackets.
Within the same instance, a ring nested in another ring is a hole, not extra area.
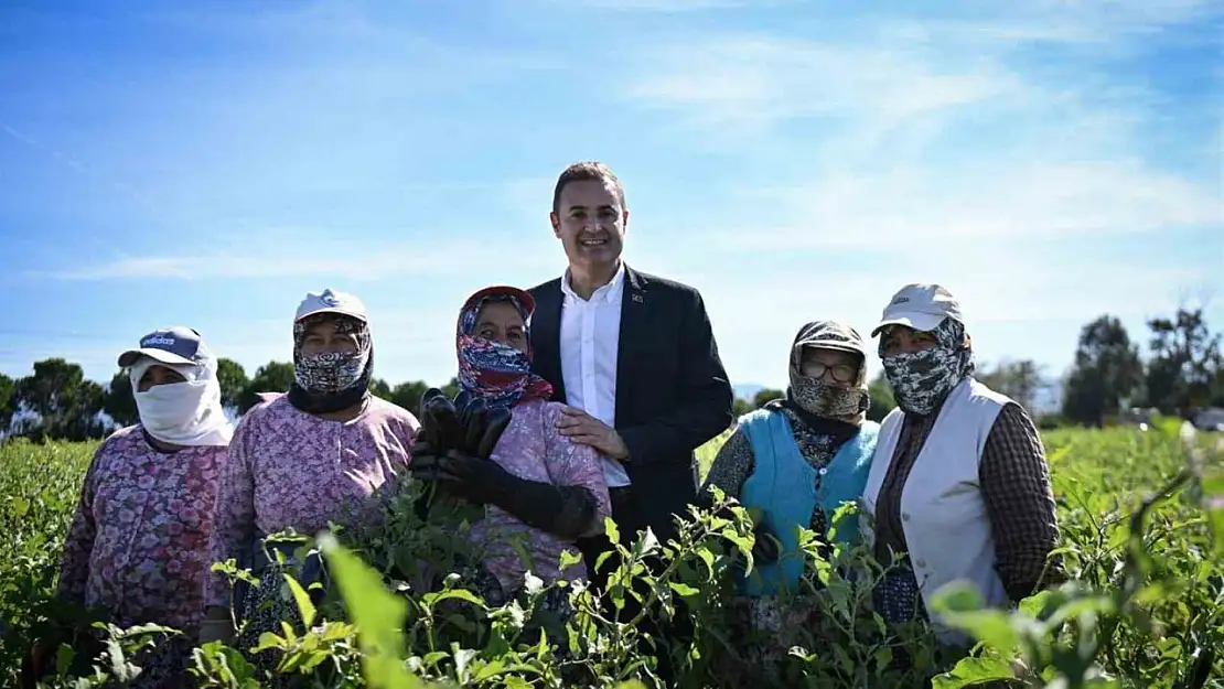
[[(879, 427), (867, 421), (865, 361), (863, 338), (853, 328), (834, 321), (800, 328), (791, 345), (786, 397), (739, 419), (703, 486), (705, 505), (711, 502), (710, 486), (717, 486), (759, 512), (754, 569), (737, 583), (753, 627), (781, 631), (813, 622), (796, 601), (786, 605), (788, 622), (778, 618), (778, 594), (799, 592), (804, 579), (799, 527), (827, 538), (829, 527), (836, 526), (832, 540), (840, 543), (858, 537), (853, 515), (836, 525), (830, 520), (843, 502), (862, 497), (875, 448)], [(748, 669), (767, 669), (769, 654), (776, 651), (772, 660), (780, 660), (787, 647), (766, 641)]]

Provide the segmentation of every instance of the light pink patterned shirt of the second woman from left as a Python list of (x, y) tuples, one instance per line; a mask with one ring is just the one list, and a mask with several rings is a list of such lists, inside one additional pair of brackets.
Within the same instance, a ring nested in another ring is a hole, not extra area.
[[(222, 470), (212, 561), (237, 559), (257, 532), (313, 535), (328, 521), (377, 519), (419, 428), (411, 412), (375, 397), (344, 422), (299, 411), (283, 395), (251, 409)], [(228, 607), (229, 597), (225, 576), (212, 575), (207, 605)]]

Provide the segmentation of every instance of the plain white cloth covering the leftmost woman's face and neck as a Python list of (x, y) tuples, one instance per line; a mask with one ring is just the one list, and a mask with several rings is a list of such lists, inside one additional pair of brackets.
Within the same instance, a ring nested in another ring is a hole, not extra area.
[[(151, 366), (173, 368), (186, 381), (138, 392), (140, 381)], [(222, 408), (222, 388), (217, 382), (215, 363), (165, 365), (143, 357), (132, 365), (130, 376), (141, 425), (151, 436), (175, 445), (229, 444), (234, 426)]]

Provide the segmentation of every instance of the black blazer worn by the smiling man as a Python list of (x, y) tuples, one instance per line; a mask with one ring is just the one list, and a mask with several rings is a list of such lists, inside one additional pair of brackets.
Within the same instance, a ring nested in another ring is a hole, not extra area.
[[(561, 278), (530, 291), (532, 368), (564, 403)], [(700, 292), (628, 266), (617, 352), (616, 430), (641, 514), (616, 519), (666, 538), (676, 532), (672, 515), (687, 516), (696, 498), (693, 450), (731, 426), (734, 395)]]

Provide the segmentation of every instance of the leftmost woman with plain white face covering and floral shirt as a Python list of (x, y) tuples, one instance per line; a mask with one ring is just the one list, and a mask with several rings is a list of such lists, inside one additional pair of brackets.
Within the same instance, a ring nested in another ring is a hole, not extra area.
[[(120, 627), (182, 631), (135, 661), (142, 673), (132, 684), (181, 687), (203, 622), (212, 505), (233, 427), (217, 360), (196, 330), (149, 333), (119, 366), (129, 370), (140, 423), (115, 431), (94, 454), (64, 546), (59, 596)], [(94, 640), (77, 636), (78, 650)]]

